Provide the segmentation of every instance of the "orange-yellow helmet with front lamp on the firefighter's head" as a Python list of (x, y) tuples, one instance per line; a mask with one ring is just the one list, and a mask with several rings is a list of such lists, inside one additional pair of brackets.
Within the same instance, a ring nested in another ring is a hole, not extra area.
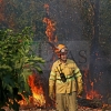
[(58, 44), (56, 53), (60, 58), (61, 53), (68, 52), (68, 48), (64, 44)]

